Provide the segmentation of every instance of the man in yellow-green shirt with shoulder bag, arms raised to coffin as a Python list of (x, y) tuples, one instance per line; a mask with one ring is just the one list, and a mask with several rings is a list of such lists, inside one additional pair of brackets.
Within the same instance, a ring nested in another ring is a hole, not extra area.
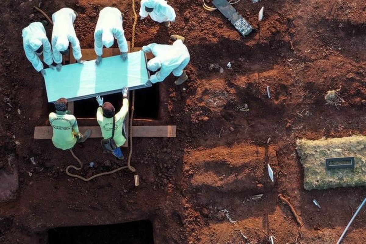
[[(115, 130), (113, 135), (113, 141), (115, 142), (115, 149), (105, 148), (111, 150), (112, 154), (118, 159), (123, 159), (123, 154), (121, 146), (126, 142), (126, 133), (124, 133), (124, 119), (128, 113), (128, 99), (127, 99), (128, 88), (124, 87), (122, 108), (118, 113), (115, 114), (115, 107), (110, 102), (104, 102), (103, 98), (97, 96), (98, 110), (97, 110), (97, 121), (100, 125), (102, 136), (104, 140), (112, 138), (112, 128), (113, 128), (113, 117), (115, 117)], [(103, 145), (103, 141), (102, 141)]]

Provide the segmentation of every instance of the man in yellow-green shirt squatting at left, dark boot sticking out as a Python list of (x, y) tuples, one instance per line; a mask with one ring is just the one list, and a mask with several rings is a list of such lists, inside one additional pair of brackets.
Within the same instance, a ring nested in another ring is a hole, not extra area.
[(74, 115), (67, 110), (66, 98), (60, 98), (55, 102), (56, 113), (48, 116), (49, 123), (53, 128), (52, 143), (55, 147), (68, 150), (74, 147), (76, 142), (85, 142), (91, 131), (88, 129), (84, 135), (79, 132), (78, 123)]

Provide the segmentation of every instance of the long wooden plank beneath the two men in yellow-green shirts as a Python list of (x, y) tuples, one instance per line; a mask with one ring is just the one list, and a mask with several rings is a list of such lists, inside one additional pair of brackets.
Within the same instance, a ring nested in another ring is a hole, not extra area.
[[(90, 138), (101, 138), (102, 132), (99, 126), (79, 126), (79, 131), (83, 133), (87, 129), (91, 130)], [(132, 126), (133, 137), (176, 137), (176, 125), (143, 125)], [(34, 139), (51, 139), (51, 126), (34, 127)]]

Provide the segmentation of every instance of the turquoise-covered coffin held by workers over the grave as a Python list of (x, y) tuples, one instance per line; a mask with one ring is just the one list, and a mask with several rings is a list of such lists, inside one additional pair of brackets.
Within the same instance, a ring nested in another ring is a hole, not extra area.
[(143, 51), (128, 53), (127, 61), (112, 56), (104, 58), (98, 66), (95, 60), (90, 60), (63, 65), (61, 71), (48, 68), (44, 79), (48, 102), (61, 97), (76, 101), (117, 93), (126, 86), (129, 90), (151, 86)]

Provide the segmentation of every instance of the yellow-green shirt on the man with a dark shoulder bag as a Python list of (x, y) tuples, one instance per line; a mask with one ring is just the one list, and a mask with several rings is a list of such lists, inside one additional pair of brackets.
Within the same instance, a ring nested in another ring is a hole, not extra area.
[[(116, 122), (115, 122), (115, 134), (113, 140), (115, 141), (117, 147), (122, 146), (126, 142), (126, 138), (122, 135), (123, 129), (123, 120), (128, 113), (128, 99), (123, 98), (123, 104), (121, 110), (116, 113)], [(106, 118), (103, 116), (103, 109), (101, 107), (97, 110), (97, 121), (100, 125), (100, 129), (102, 131), (102, 136), (104, 139), (109, 139), (112, 137), (112, 128), (113, 128), (113, 117)]]

